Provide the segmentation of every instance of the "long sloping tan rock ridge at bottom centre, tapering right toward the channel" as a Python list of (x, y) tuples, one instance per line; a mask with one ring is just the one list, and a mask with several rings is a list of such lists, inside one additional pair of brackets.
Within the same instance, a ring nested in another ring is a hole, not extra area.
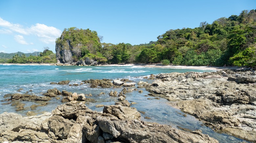
[(103, 132), (126, 142), (218, 142), (200, 131), (189, 133), (157, 123), (140, 122), (138, 120), (125, 123), (125, 121), (111, 121), (102, 117), (98, 117), (96, 121)]

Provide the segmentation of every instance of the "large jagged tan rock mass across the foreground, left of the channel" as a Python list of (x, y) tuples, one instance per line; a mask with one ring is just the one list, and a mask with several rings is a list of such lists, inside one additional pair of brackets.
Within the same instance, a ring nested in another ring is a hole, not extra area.
[(84, 102), (59, 105), (52, 113), (22, 117), (0, 114), (0, 142), (46, 143), (217, 143), (200, 130), (185, 132), (168, 125), (140, 120), (136, 108), (105, 106), (103, 113), (92, 111)]

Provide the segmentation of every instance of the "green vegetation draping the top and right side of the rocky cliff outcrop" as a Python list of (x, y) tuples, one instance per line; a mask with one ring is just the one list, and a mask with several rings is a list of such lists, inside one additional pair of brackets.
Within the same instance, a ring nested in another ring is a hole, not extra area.
[(107, 58), (102, 55), (100, 39), (102, 37), (98, 36), (96, 31), (71, 27), (63, 30), (61, 37), (56, 39), (56, 45), (71, 48), (74, 62), (90, 57), (105, 63)]

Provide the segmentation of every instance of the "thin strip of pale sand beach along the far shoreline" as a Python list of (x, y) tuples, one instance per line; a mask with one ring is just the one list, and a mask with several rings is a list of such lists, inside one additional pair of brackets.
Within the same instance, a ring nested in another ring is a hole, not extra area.
[[(31, 64), (2, 64), (2, 65), (46, 65), (46, 66), (54, 66), (56, 64), (38, 64), (38, 63), (31, 63)], [(60, 66), (60, 65), (59, 65)], [(69, 66), (69, 65), (66, 65)], [(101, 66), (136, 66), (136, 67), (149, 67), (149, 68), (170, 68), (170, 69), (196, 69), (196, 70), (212, 70), (212, 71), (220, 71), (224, 69), (233, 69), (238, 70), (242, 69), (242, 67), (210, 67), (210, 66), (176, 66), (176, 65), (162, 65), (158, 64), (110, 64), (110, 65), (101, 65)]]

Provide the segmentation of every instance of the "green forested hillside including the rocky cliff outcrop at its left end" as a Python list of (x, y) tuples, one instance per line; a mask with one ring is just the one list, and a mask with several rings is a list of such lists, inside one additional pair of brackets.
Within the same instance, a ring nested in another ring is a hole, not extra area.
[(168, 30), (158, 36), (157, 41), (140, 45), (100, 43), (96, 31), (72, 27), (65, 29), (56, 40), (56, 53), (63, 59), (67, 56), (65, 47), (69, 49), (69, 62), (90, 57), (99, 63), (111, 64), (162, 62), (193, 66), (256, 66), (256, 10), (244, 10), (240, 15), (199, 25), (193, 29)]

